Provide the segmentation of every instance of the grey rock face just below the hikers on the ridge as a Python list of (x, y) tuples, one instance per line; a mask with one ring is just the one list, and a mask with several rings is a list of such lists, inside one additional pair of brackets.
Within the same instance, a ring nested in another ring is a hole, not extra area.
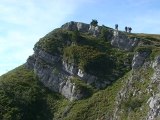
[(115, 47), (130, 51), (138, 44), (138, 42), (139, 40), (137, 38), (129, 38), (122, 32), (119, 32), (117, 30), (113, 31), (111, 45)]

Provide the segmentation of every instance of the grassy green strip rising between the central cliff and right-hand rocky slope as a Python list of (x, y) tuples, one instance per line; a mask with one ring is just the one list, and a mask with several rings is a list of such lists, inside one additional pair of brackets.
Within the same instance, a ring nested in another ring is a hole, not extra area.
[(127, 75), (116, 81), (105, 90), (100, 90), (90, 98), (76, 101), (64, 120), (96, 120), (97, 118), (107, 119), (113, 114), (115, 100), (118, 91), (123, 85)]

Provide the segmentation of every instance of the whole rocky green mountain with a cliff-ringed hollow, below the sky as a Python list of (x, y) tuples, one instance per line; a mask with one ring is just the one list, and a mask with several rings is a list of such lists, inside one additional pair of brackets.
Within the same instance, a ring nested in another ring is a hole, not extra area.
[(68, 22), (0, 76), (0, 120), (160, 119), (160, 35)]

